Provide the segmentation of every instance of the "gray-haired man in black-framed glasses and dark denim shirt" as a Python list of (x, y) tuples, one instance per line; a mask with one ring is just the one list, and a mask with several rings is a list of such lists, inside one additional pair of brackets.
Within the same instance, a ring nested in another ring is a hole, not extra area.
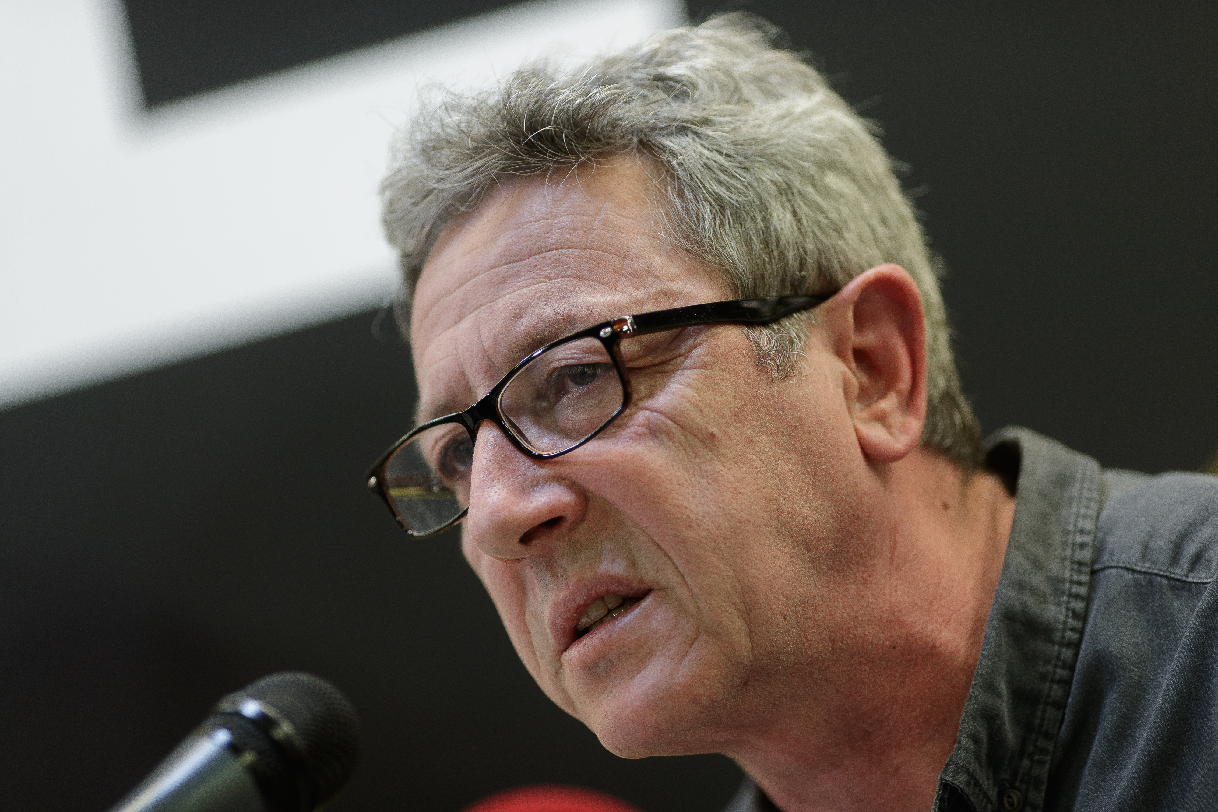
[(420, 427), (369, 487), (463, 520), (610, 751), (723, 752), (732, 810), (1212, 806), (1218, 488), (983, 453), (887, 156), (749, 21), (446, 100), (385, 212)]

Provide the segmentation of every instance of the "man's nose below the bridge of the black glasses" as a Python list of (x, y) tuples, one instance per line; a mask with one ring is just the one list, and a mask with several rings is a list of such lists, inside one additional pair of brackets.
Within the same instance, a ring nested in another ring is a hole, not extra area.
[(468, 539), (508, 562), (546, 550), (587, 504), (579, 487), (555, 476), (555, 467), (521, 454), (493, 424), (479, 426), (463, 531)]

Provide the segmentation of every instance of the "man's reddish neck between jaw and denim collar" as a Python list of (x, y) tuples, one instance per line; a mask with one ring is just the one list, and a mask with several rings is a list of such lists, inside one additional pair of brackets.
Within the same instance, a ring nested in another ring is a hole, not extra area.
[(929, 808), (977, 668), (1015, 498), (922, 448), (873, 474), (875, 554), (837, 601), (859, 633), (728, 752), (784, 812)]

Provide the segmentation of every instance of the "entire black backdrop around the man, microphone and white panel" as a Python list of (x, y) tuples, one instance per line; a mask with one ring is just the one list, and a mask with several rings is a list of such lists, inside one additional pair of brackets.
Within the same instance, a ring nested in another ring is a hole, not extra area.
[[(149, 101), (441, 22), (278, 5), (129, 0)], [(987, 430), (1149, 471), (1218, 448), (1212, 4), (743, 7), (815, 51), (914, 166)], [(364, 717), (336, 812), (543, 780), (649, 812), (730, 795), (721, 757), (600, 750), (532, 684), (453, 541), (406, 542), (364, 493), (413, 397), (373, 315), (0, 413), (10, 806), (106, 808), (222, 693), (283, 668), (333, 679)]]

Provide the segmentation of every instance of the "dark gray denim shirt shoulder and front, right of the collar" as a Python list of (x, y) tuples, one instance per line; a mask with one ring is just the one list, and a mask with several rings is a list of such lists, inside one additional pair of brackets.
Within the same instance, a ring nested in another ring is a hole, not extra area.
[(1211, 810), (1218, 477), (1106, 471), (1045, 810)]

